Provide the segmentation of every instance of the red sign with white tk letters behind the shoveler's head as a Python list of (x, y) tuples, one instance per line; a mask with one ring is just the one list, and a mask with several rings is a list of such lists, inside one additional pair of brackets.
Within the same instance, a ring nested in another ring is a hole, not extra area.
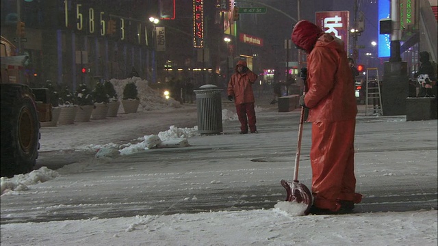
[(316, 25), (322, 31), (344, 41), (344, 49), (348, 51), (348, 23), (350, 23), (349, 11), (316, 12)]

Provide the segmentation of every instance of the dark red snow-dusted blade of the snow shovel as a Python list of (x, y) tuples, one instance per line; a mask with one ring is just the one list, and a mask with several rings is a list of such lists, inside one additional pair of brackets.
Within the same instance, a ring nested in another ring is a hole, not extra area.
[(287, 180), (281, 180), (281, 185), (286, 189), (286, 201), (287, 202), (298, 202), (307, 204), (307, 210), (310, 209), (312, 205), (312, 193), (309, 188), (294, 180), (294, 182), (289, 182)]

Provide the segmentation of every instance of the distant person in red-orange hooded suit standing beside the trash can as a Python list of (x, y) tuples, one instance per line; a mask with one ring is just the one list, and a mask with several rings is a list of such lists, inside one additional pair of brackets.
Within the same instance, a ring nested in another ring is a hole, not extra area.
[(257, 74), (249, 70), (246, 61), (237, 61), (235, 73), (228, 83), (228, 100), (234, 98), (235, 110), (240, 121), (240, 134), (257, 133), (255, 126), (254, 92), (253, 83), (257, 80)]

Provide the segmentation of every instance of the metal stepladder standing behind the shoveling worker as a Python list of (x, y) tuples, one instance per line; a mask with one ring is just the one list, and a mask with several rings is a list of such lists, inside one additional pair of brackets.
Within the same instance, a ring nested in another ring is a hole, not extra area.
[(365, 83), (365, 115), (383, 115), (378, 68), (367, 68)]

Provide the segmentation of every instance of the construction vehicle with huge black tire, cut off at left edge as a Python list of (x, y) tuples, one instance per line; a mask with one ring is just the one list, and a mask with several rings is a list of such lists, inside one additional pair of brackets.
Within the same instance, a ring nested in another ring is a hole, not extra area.
[[(34, 91), (22, 83), (25, 55), (1, 37), (1, 176), (30, 172), (36, 163), (40, 121)], [(50, 112), (48, 112), (50, 113)]]

